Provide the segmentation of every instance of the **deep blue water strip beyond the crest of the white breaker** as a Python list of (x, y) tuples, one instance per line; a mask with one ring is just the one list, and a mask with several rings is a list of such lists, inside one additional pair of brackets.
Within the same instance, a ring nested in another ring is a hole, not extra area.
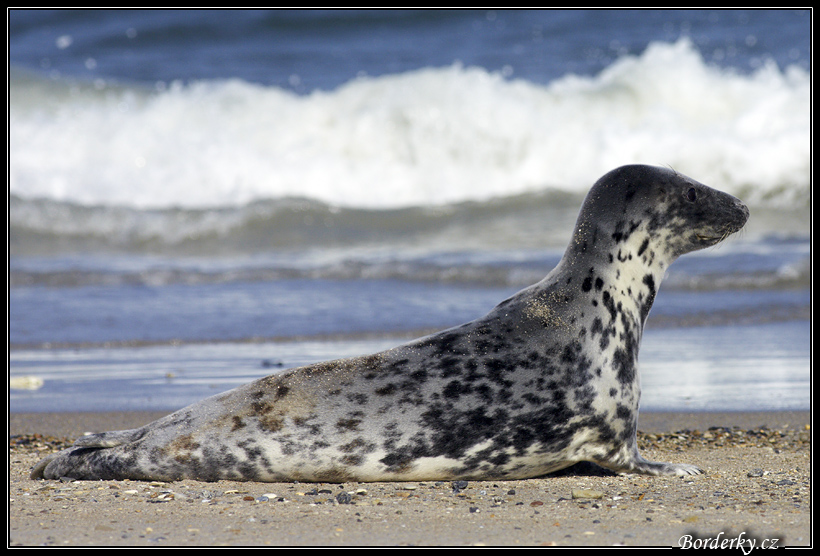
[(807, 10), (12, 10), (12, 65), (123, 82), (238, 78), (307, 93), (458, 61), (546, 84), (689, 37), (749, 72), (810, 69)]

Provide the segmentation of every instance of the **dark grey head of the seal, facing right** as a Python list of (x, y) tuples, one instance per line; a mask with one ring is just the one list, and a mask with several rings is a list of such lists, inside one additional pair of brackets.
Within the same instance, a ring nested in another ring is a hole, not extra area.
[(574, 255), (612, 253), (637, 242), (668, 266), (740, 230), (749, 209), (739, 199), (668, 168), (629, 165), (601, 177), (584, 200)]

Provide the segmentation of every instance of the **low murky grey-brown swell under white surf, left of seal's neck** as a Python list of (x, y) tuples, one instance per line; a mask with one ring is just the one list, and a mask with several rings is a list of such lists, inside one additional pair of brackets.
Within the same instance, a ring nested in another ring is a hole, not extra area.
[(425, 251), (563, 246), (579, 196), (525, 194), (487, 202), (384, 210), (310, 199), (255, 201), (210, 209), (138, 209), (9, 198), (15, 254), (94, 250), (209, 256), (387, 246)]

